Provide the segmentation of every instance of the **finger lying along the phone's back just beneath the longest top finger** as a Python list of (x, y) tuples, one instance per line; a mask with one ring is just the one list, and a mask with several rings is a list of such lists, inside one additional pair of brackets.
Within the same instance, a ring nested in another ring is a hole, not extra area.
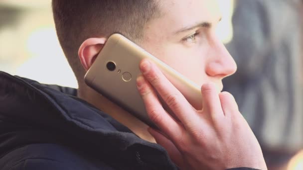
[(144, 77), (137, 79), (137, 86), (152, 122), (170, 139), (176, 140), (182, 127), (163, 109), (155, 91)]

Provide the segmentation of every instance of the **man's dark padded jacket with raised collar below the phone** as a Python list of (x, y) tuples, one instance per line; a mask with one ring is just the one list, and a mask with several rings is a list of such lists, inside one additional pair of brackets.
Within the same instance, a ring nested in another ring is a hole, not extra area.
[(0, 170), (177, 169), (76, 93), (0, 72)]

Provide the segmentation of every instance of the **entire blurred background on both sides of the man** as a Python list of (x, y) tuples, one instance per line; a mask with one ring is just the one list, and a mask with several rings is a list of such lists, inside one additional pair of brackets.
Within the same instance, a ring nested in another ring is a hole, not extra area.
[[(303, 170), (302, 1), (220, 5), (217, 32), (239, 67), (225, 90), (235, 95), (270, 170)], [(0, 0), (0, 71), (78, 87), (57, 40), (51, 0)]]

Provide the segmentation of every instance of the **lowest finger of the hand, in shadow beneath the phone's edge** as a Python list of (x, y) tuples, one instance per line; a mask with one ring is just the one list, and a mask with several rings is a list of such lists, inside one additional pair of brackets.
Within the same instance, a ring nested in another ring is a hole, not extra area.
[(183, 157), (175, 145), (160, 132), (149, 128), (148, 131), (155, 139), (157, 144), (161, 145), (168, 153), (169, 158), (179, 167), (184, 167)]

